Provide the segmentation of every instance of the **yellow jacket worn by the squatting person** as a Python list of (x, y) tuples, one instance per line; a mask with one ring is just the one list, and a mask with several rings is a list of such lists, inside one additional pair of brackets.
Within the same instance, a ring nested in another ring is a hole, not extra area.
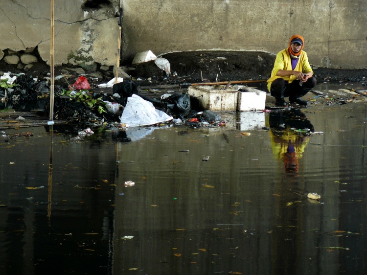
[[(296, 80), (296, 76), (277, 76), (276, 73), (279, 69), (285, 69), (285, 70), (292, 70), (292, 60), (291, 56), (289, 55), (288, 48), (283, 49), (279, 51), (275, 58), (274, 68), (272, 70), (272, 75), (268, 79), (268, 90), (270, 92), (270, 86), (272, 85), (272, 82), (276, 78), (284, 78), (284, 80), (288, 81), (288, 83), (291, 83), (292, 81)], [(308, 62), (307, 53), (303, 50), (301, 50), (301, 54), (299, 55), (299, 60), (297, 63), (297, 66), (295, 70), (302, 71), (304, 73), (312, 71), (310, 63)]]

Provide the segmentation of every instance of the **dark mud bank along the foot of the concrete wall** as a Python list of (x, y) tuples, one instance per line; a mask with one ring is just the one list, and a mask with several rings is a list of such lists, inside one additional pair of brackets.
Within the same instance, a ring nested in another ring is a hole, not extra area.
[[(198, 82), (203, 79), (210, 81), (222, 80), (267, 80), (270, 76), (275, 55), (262, 51), (189, 51), (167, 53), (161, 57), (166, 58), (171, 65), (171, 72), (177, 72), (178, 79), (185, 77), (188, 81)], [(122, 64), (131, 67), (130, 64)], [(107, 69), (107, 70), (106, 70)], [(154, 62), (147, 62), (131, 67), (129, 74), (133, 78), (149, 78), (162, 81), (165, 73)], [(367, 69), (327, 69), (313, 67), (319, 82), (361, 82), (365, 83)], [(38, 62), (27, 71), (34, 77), (44, 76), (50, 68), (46, 63)], [(0, 71), (14, 73), (24, 72), (15, 65), (0, 62)], [(113, 66), (96, 69), (103, 80), (109, 80), (114, 76)], [(55, 75), (58, 74), (91, 74), (95, 71), (86, 71), (71, 65), (55, 67)], [(167, 82), (177, 82), (177, 78), (165, 79)]]

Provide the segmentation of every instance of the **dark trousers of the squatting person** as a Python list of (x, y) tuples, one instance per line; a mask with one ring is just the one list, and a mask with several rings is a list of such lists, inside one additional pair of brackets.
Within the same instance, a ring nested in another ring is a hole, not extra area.
[(277, 78), (272, 82), (270, 86), (270, 94), (275, 97), (275, 99), (284, 99), (288, 97), (289, 99), (296, 99), (302, 97), (307, 92), (310, 92), (316, 86), (316, 77), (312, 76), (307, 79), (306, 82), (299, 85), (299, 80), (292, 81), (288, 83), (283, 78)]

